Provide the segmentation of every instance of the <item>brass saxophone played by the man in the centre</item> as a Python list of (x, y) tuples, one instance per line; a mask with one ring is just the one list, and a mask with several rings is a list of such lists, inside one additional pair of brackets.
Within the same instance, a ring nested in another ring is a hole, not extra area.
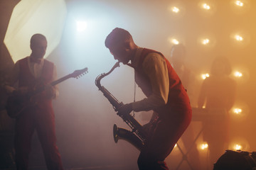
[(95, 79), (95, 85), (99, 88), (100, 91), (102, 91), (103, 95), (110, 101), (112, 104), (114, 111), (117, 111), (117, 115), (124, 120), (127, 125), (132, 129), (127, 130), (124, 128), (118, 128), (116, 124), (114, 124), (113, 127), (113, 135), (114, 135), (114, 142), (118, 142), (118, 140), (126, 140), (127, 142), (131, 143), (136, 147), (137, 149), (141, 150), (144, 146), (144, 143), (146, 141), (146, 132), (143, 130), (142, 125), (137, 122), (137, 120), (130, 114), (122, 115), (122, 113), (119, 113), (118, 110), (121, 106), (124, 105), (124, 103), (119, 102), (117, 98), (115, 98), (112, 94), (110, 94), (110, 91), (105, 89), (104, 86), (101, 86), (100, 80), (103, 77), (106, 77), (108, 74), (113, 72), (115, 68), (119, 67), (119, 62), (114, 64), (112, 69), (110, 69), (110, 72), (102, 73)]

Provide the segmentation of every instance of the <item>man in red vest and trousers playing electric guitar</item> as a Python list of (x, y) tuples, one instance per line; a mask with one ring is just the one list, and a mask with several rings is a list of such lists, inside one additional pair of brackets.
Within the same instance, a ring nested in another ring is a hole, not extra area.
[[(56, 78), (56, 69), (53, 62), (43, 59), (46, 47), (47, 40), (44, 35), (33, 35), (31, 55), (18, 60), (11, 73), (11, 84), (18, 84), (18, 89), (14, 90), (13, 94), (26, 95), (38, 87), (46, 86), (46, 90), (33, 96), (28, 107), (16, 117), (14, 137), (16, 169), (28, 169), (28, 154), (31, 151), (31, 137), (34, 130), (41, 142), (47, 168), (63, 169), (56, 146), (55, 116), (52, 106), (52, 99), (58, 96), (58, 89), (49, 85)], [(40, 84), (38, 84), (39, 80)]]

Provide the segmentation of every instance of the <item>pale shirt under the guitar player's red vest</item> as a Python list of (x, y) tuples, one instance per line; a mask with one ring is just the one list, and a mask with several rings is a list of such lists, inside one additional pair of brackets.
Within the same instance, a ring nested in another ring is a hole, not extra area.
[[(41, 77), (41, 74), (43, 71), (43, 64), (44, 64), (44, 59), (41, 59), (40, 64), (38, 64), (36, 62), (31, 62), (31, 57), (28, 57), (29, 70), (30, 70), (31, 74), (33, 75), (33, 77), (35, 77), (36, 79)], [(20, 72), (20, 67), (19, 67), (19, 61), (18, 61), (14, 65), (14, 69), (11, 72), (11, 85), (14, 85), (18, 81), (19, 72)], [(55, 81), (56, 78), (57, 78), (57, 72), (56, 72), (56, 66), (54, 64), (52, 81)], [(54, 86), (54, 90), (55, 90), (55, 95), (53, 95), (53, 98), (58, 96), (58, 86)]]

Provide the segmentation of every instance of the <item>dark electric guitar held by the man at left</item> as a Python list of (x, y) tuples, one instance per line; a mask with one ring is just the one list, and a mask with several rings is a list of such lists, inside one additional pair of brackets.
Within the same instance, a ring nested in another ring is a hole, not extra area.
[[(53, 81), (50, 83), (51, 86), (55, 86), (56, 84), (59, 84), (60, 82), (65, 81), (66, 79), (70, 78), (76, 78), (78, 79), (82, 75), (86, 74), (88, 72), (87, 67), (85, 69), (79, 69), (75, 70), (72, 74), (68, 74), (65, 77), (62, 77), (56, 81)], [(21, 112), (27, 108), (28, 106), (31, 106), (31, 98), (33, 96), (36, 96), (36, 94), (40, 94), (46, 90), (46, 86), (41, 86), (40, 88), (34, 90), (34, 91), (29, 91), (27, 94), (21, 94), (18, 92), (15, 92), (11, 94), (7, 98), (6, 101), (6, 112), (11, 118), (16, 118), (18, 115), (21, 114)]]

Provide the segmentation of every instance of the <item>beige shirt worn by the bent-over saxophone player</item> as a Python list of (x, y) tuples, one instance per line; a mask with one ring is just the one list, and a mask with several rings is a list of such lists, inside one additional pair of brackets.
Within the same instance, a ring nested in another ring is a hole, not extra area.
[[(132, 67), (137, 67), (143, 48), (139, 47), (132, 60)], [(151, 81), (152, 94), (148, 98), (132, 103), (134, 111), (150, 111), (159, 106), (164, 106), (169, 95), (169, 76), (164, 57), (158, 53), (149, 53), (142, 64), (144, 72)]]

